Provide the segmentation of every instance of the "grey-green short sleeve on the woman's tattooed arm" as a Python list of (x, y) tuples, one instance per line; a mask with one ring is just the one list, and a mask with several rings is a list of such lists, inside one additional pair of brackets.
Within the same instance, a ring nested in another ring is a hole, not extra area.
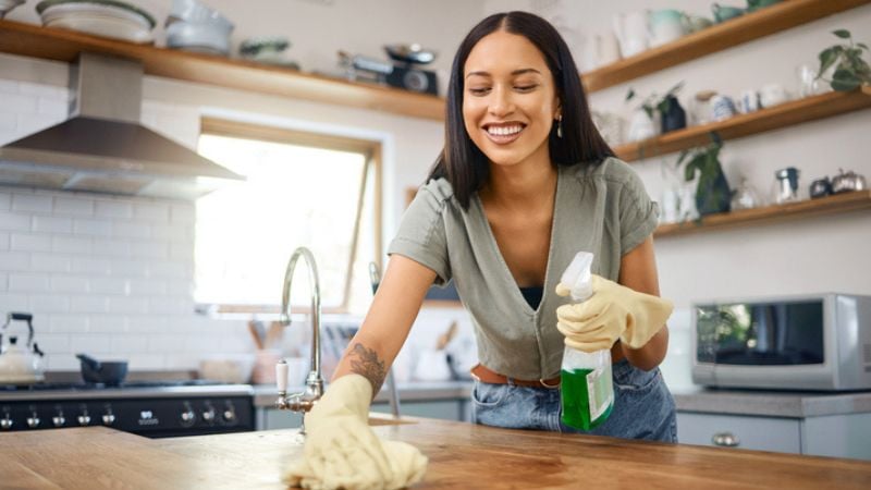
[(420, 187), (388, 246), (388, 255), (402, 255), (432, 269), (439, 285), (451, 279), (443, 218), (450, 195), (450, 184), (443, 181)]

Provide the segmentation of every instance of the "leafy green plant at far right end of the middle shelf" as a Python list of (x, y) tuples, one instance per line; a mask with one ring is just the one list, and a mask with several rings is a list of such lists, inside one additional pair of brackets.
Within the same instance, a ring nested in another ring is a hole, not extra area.
[[(848, 44), (834, 45), (820, 52), (820, 71), (817, 78), (822, 78), (838, 91), (849, 91), (860, 85), (871, 85), (871, 66), (862, 59), (862, 50), (868, 51), (864, 42), (854, 42), (847, 29), (833, 30), (832, 34), (846, 39)], [(824, 78), (825, 73), (834, 66), (832, 78)]]

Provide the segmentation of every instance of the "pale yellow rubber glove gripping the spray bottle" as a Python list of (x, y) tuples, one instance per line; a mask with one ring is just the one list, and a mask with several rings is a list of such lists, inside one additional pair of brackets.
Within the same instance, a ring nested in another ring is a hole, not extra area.
[[(556, 328), (565, 335), (565, 344), (584, 352), (611, 348), (617, 339), (630, 348), (640, 348), (659, 332), (672, 315), (674, 305), (650, 294), (592, 275), (589, 299), (556, 308)], [(567, 296), (563, 283), (556, 294)]]

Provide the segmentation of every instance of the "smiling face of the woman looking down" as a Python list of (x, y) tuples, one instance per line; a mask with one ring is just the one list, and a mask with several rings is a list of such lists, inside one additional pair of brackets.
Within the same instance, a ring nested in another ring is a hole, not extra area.
[(463, 69), (463, 120), (491, 162), (513, 166), (549, 157), (560, 103), (544, 57), (527, 38), (499, 30), (483, 37)]

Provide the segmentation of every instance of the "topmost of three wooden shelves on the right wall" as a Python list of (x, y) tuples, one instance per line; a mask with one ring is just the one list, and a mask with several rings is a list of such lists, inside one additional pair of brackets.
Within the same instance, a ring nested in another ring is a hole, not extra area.
[(584, 73), (581, 81), (587, 91), (601, 90), (866, 3), (871, 0), (787, 0)]

